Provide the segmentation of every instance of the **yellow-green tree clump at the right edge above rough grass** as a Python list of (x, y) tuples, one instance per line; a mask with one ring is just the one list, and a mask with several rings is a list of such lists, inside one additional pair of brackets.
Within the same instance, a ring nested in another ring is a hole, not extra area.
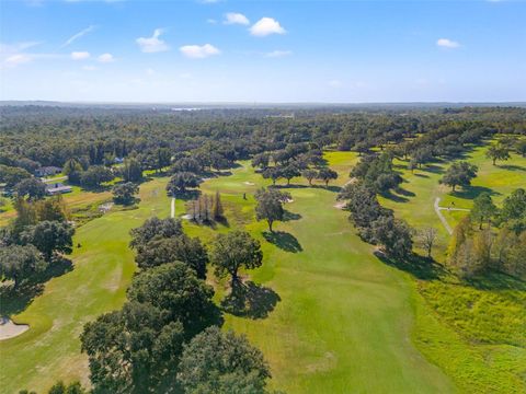
[(465, 278), (495, 270), (526, 275), (526, 192), (514, 190), (501, 208), (489, 194), (479, 195), (455, 228), (448, 255)]

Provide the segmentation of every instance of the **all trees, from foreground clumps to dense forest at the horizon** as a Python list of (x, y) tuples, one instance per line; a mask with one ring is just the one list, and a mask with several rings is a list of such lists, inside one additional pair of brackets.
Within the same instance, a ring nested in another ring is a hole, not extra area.
[[(302, 176), (310, 186), (319, 181), (329, 188), (339, 174), (323, 152), (357, 152), (350, 181), (338, 192), (359, 236), (395, 264), (431, 266), (433, 229), (416, 234), (378, 200), (403, 182), (395, 161), (403, 160), (412, 171), (450, 161), (439, 182), (455, 192), (477, 176), (477, 166), (462, 158), (469, 147), (495, 140), (487, 153), (493, 164), (511, 152), (526, 155), (526, 109), (517, 107), (2, 106), (0, 116), (1, 200), (9, 198), (18, 212), (0, 231), (0, 275), (14, 288), (64, 265), (64, 255), (75, 247), (75, 227), (60, 195), (45, 198), (48, 188), (37, 175), (45, 169), (57, 167), (70, 185), (87, 190), (118, 178), (112, 190), (122, 206), (135, 204), (146, 173), (169, 175), (167, 193), (185, 197), (194, 222), (210, 224), (225, 220), (220, 194), (199, 196), (195, 189), (214, 172), (250, 160), (273, 185), (289, 186)], [(267, 235), (275, 236), (273, 223), (284, 219), (290, 194), (268, 186), (254, 198), (256, 220), (266, 221)], [(240, 297), (238, 270), (261, 266), (260, 242), (235, 230), (219, 234), (207, 250), (185, 234), (180, 220), (158, 218), (130, 235), (140, 270), (126, 302), (88, 323), (81, 335), (94, 392), (268, 392), (271, 372), (262, 352), (244, 337), (217, 329), (221, 312), (205, 281), (210, 263), (218, 278), (230, 279), (231, 297)], [(414, 251), (415, 235), (423, 239), (426, 256)], [(506, 196), (501, 207), (481, 194), (455, 229), (448, 264), (461, 279), (489, 271), (523, 277), (525, 236), (524, 189)], [(239, 357), (244, 362), (233, 368)], [(75, 384), (56, 387), (56, 393), (84, 392)]]

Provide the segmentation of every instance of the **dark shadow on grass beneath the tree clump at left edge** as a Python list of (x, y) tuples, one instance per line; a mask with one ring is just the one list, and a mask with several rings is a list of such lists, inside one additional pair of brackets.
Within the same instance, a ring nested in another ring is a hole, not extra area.
[(5, 282), (0, 283), (0, 315), (11, 316), (25, 311), (33, 300), (42, 294), (45, 282), (72, 269), (71, 260), (59, 256), (55, 257), (44, 273), (23, 281), (18, 288)]

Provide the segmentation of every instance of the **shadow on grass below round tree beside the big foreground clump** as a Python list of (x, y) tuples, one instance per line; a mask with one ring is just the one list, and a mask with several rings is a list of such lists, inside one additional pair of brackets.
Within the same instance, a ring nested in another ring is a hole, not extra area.
[(230, 294), (221, 301), (221, 308), (235, 316), (265, 318), (281, 300), (271, 288), (250, 280), (245, 283), (237, 281)]

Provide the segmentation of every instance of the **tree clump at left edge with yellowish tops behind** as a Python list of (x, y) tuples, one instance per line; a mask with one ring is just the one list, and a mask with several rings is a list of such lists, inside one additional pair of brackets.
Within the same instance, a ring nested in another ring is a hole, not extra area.
[(15, 200), (16, 218), (0, 229), (0, 277), (14, 289), (39, 275), (60, 254), (71, 253), (73, 228), (60, 196), (45, 200)]

